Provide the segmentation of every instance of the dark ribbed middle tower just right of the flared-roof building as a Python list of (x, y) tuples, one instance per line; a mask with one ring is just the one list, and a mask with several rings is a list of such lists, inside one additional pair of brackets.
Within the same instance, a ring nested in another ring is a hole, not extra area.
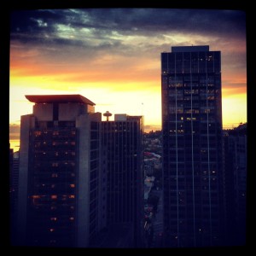
[[(143, 230), (143, 117), (115, 114), (102, 122), (103, 172), (107, 173), (107, 221), (130, 224), (131, 247), (141, 247)], [(114, 234), (113, 234), (114, 235)]]

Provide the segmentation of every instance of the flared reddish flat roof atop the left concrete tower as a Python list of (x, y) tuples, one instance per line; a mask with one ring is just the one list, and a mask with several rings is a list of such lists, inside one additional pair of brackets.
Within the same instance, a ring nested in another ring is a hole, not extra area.
[(84, 96), (79, 94), (68, 94), (68, 95), (26, 95), (26, 99), (34, 103), (68, 103), (77, 102), (84, 103), (87, 105), (94, 106), (94, 102), (91, 102)]

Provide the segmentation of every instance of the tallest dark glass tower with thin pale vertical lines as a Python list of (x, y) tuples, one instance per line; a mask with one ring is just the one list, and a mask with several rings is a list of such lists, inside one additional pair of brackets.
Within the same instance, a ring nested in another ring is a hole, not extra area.
[(207, 45), (161, 54), (166, 247), (223, 240), (220, 56)]

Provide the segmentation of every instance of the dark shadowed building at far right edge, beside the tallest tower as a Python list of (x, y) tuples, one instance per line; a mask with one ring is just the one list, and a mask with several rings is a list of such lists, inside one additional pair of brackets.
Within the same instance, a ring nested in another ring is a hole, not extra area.
[(247, 218), (247, 124), (224, 131), (224, 168), (227, 212), (227, 241), (246, 244)]

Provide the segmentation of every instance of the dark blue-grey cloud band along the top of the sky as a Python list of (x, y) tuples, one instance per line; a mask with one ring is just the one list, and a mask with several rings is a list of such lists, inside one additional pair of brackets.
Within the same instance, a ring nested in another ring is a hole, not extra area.
[[(11, 38), (44, 40), (58, 37), (56, 25), (80, 30), (93, 28), (96, 38), (183, 32), (240, 37), (245, 35), (242, 11), (204, 9), (52, 9), (15, 11), (11, 15)], [(26, 35), (26, 37), (25, 37)]]

